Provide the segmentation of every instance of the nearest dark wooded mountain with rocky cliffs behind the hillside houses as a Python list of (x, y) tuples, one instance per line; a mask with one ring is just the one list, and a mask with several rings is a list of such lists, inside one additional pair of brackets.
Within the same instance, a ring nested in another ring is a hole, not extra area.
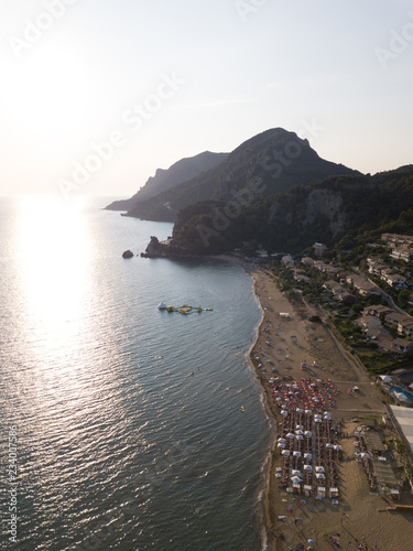
[(412, 235), (412, 205), (413, 165), (373, 176), (329, 176), (238, 210), (230, 202), (189, 205), (178, 214), (172, 246), (175, 253), (195, 255), (231, 251), (251, 240), (272, 251), (297, 252), (316, 241), (348, 249), (381, 233)]

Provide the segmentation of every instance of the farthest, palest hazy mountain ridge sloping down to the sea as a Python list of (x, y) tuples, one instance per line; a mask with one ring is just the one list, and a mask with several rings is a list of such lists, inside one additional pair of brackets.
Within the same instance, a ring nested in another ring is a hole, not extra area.
[(130, 210), (137, 202), (146, 201), (170, 187), (186, 182), (202, 172), (207, 171), (225, 161), (228, 153), (211, 153), (204, 151), (195, 156), (181, 159), (167, 170), (157, 169), (154, 176), (151, 176), (143, 187), (129, 199), (115, 201), (106, 208), (108, 210)]

